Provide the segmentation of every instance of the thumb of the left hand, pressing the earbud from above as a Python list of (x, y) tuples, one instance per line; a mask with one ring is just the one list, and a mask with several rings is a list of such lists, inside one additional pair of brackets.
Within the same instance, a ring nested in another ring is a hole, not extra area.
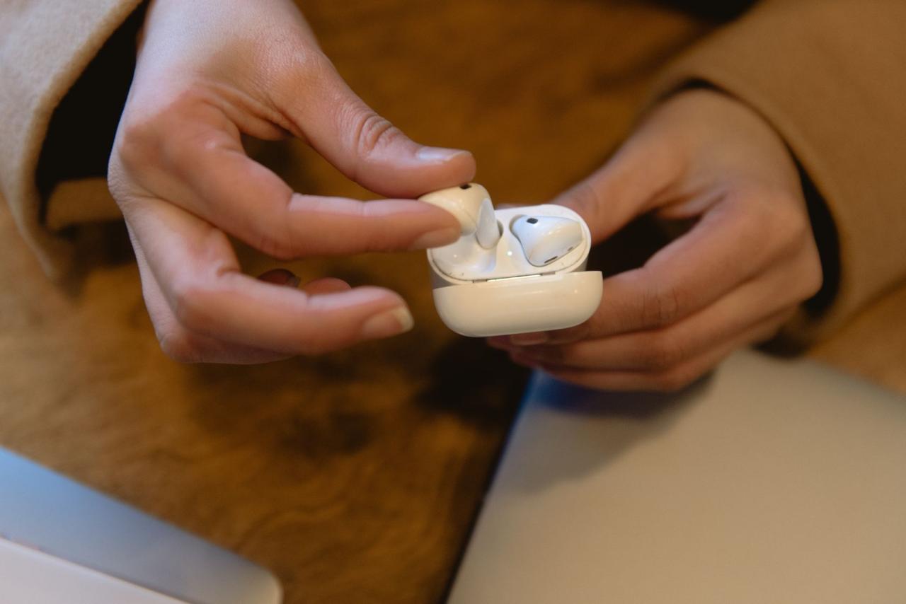
[(418, 197), (468, 182), (468, 151), (419, 145), (352, 91), (323, 57), (308, 94), (293, 91), (284, 113), (312, 147), (343, 175), (386, 197)]

